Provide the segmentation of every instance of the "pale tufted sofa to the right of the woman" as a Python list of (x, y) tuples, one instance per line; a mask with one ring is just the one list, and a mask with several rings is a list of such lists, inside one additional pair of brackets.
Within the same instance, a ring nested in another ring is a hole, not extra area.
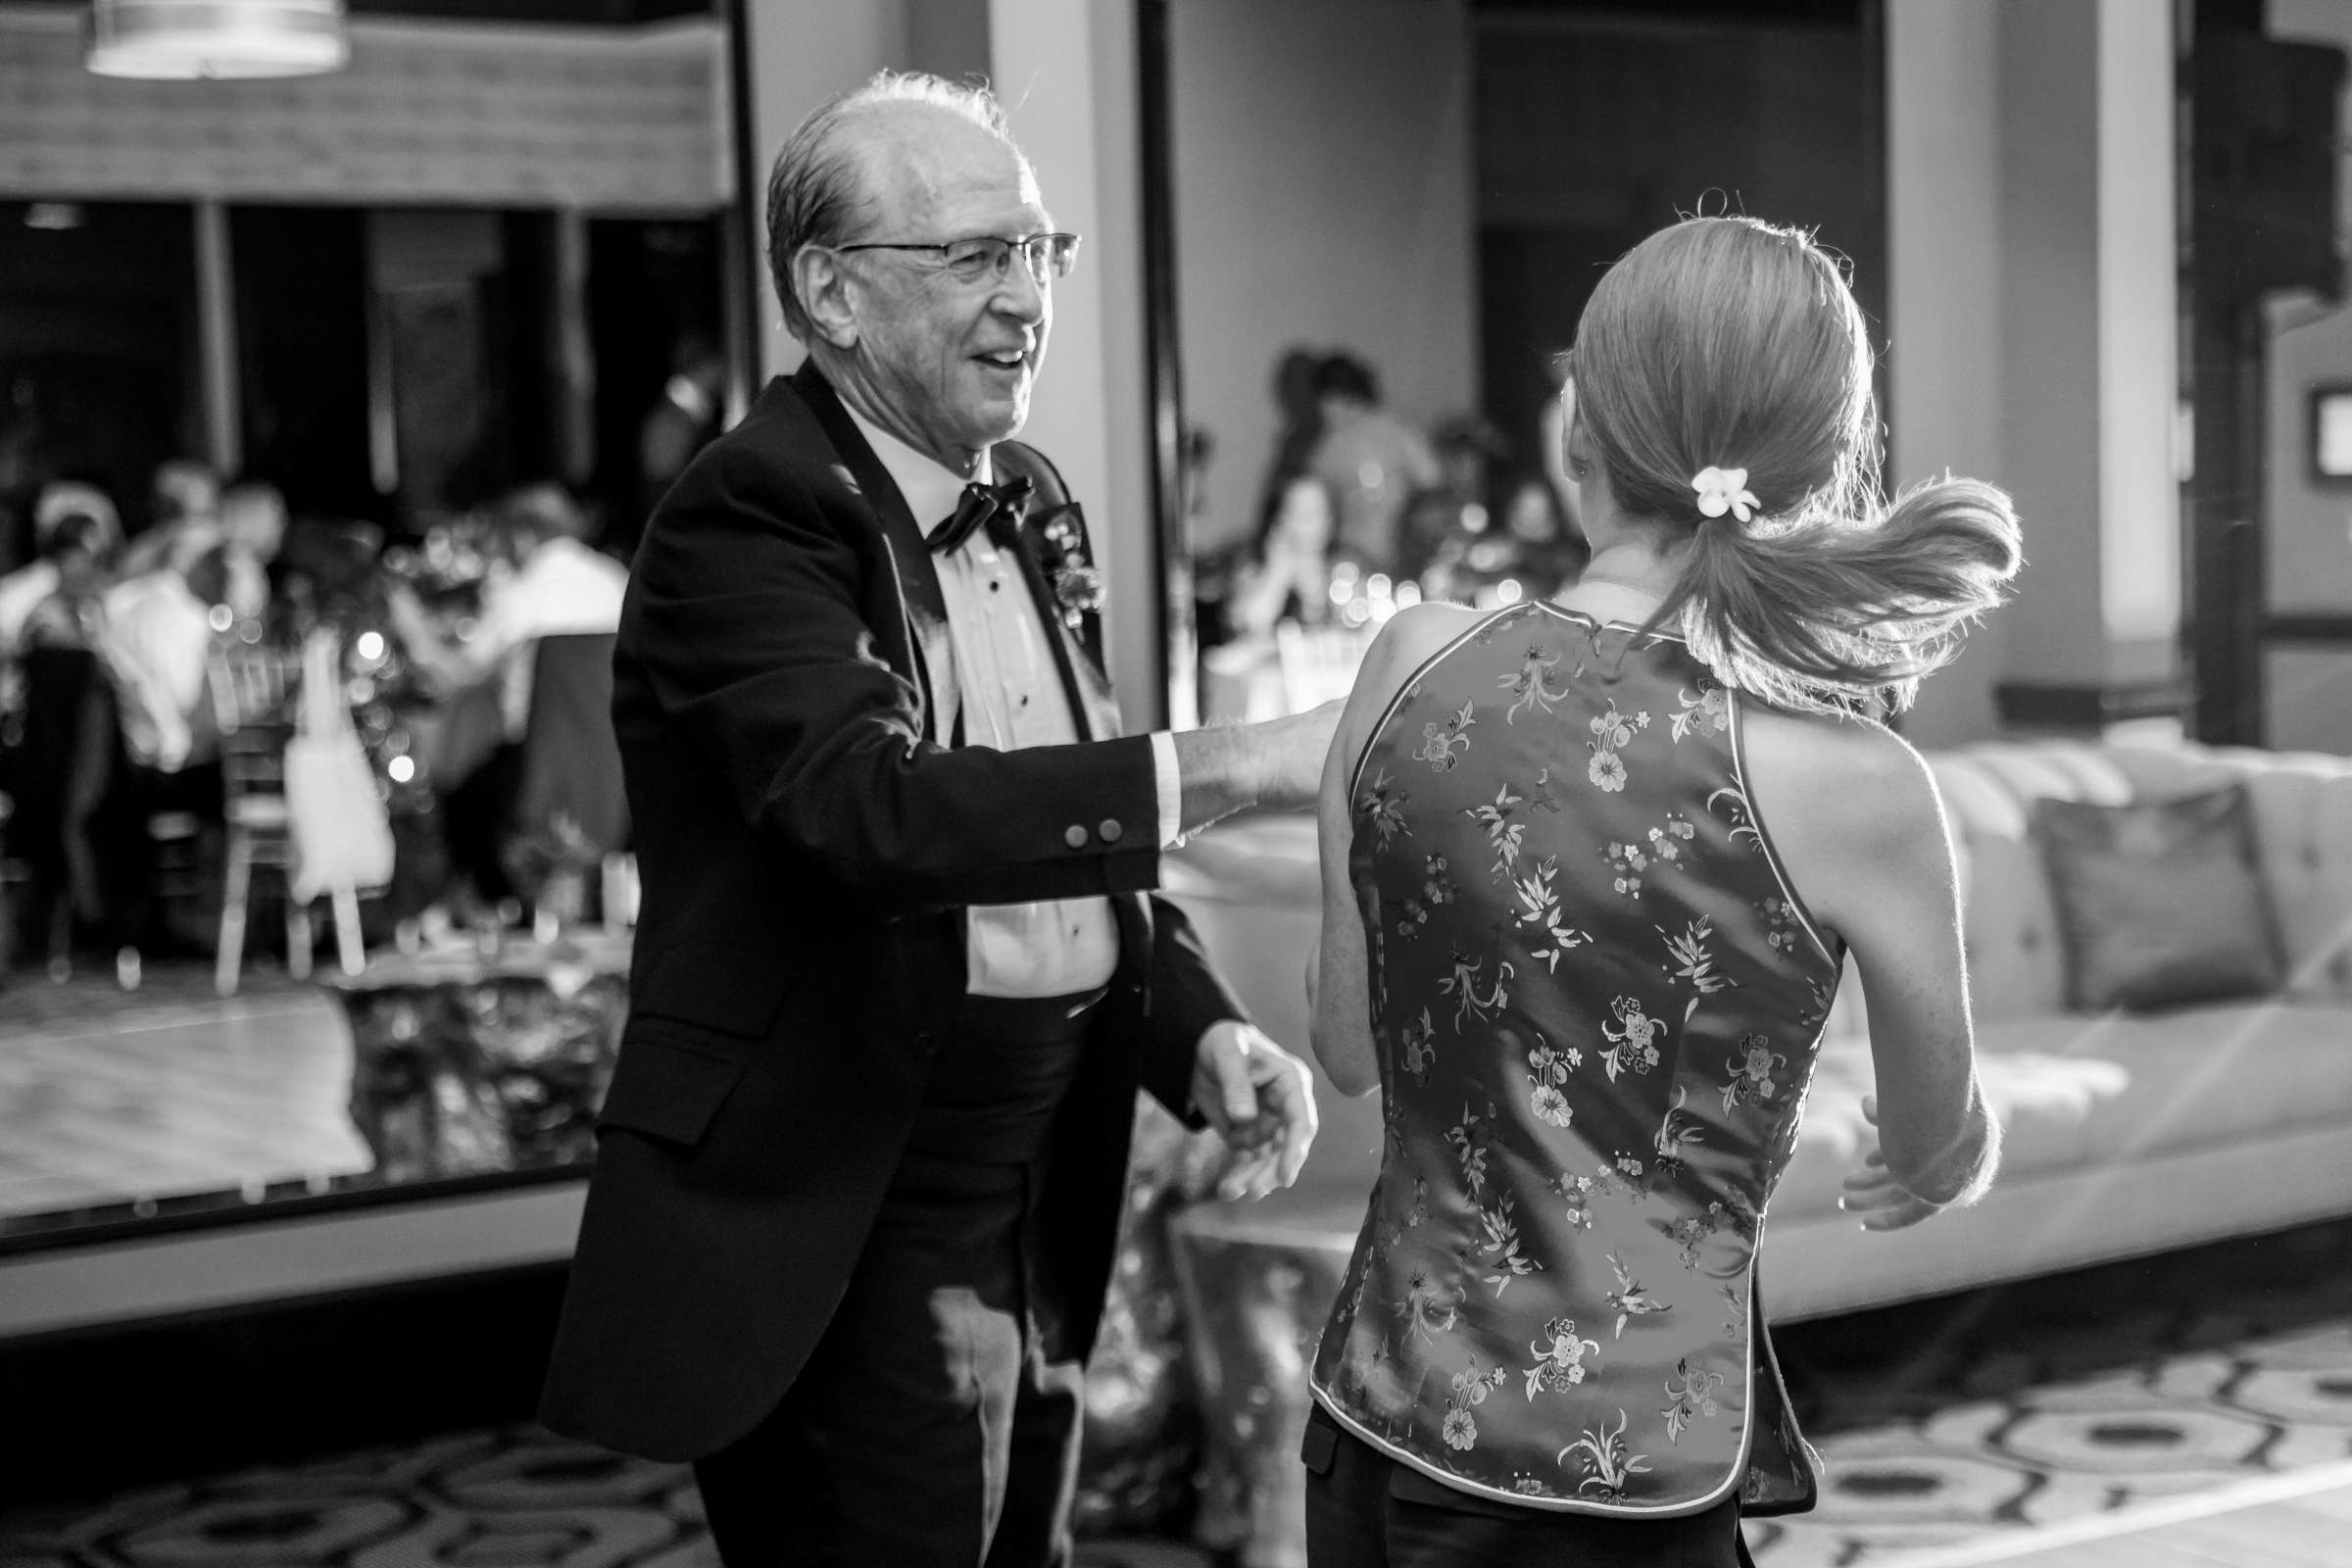
[[(2352, 762), (2084, 743), (1931, 755), (1959, 849), (1976, 1046), (2009, 1133), (1992, 1192), (1860, 1234), (1837, 1190), (1867, 1030), (1844, 1009), (1771, 1201), (1764, 1300), (1811, 1316), (2352, 1213)], [(2244, 780), (2286, 947), (2277, 997), (2065, 1011), (2039, 797), (2122, 804)], [(1849, 978), (1849, 1004), (1858, 985)]]

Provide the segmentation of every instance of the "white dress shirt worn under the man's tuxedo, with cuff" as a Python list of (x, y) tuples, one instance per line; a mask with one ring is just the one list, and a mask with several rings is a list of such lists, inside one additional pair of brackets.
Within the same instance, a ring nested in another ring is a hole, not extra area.
[[(906, 498), (915, 527), (929, 534), (946, 522), (967, 480), (856, 409), (849, 416)], [(995, 482), (995, 465), (985, 454), (971, 480)], [(1061, 668), (1047, 642), (1049, 630), (1021, 576), (1021, 562), (997, 550), (988, 529), (978, 529), (953, 552), (934, 555), (931, 564), (948, 602), (948, 644), (955, 656), (955, 691), (934, 693), (943, 703), (938, 733), (955, 733), (960, 712), (969, 745), (1018, 750), (1077, 741)], [(1152, 736), (1152, 764), (1160, 846), (1167, 849), (1183, 827), (1183, 797), (1176, 743), (1164, 731)], [(1120, 961), (1120, 929), (1108, 898), (971, 905), (964, 922), (964, 976), (976, 997), (1065, 997), (1108, 983)]]

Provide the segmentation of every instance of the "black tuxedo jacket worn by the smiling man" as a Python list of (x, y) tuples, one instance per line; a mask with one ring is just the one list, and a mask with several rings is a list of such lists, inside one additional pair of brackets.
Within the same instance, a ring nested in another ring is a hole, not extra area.
[[(1049, 463), (1000, 447), (1000, 465), (1056, 515)], [(771, 381), (654, 512), (612, 701), (642, 884), (630, 1016), (541, 1408), (557, 1432), (689, 1460), (783, 1396), (950, 1039), (974, 903), (1117, 912), (1040, 1194), (1058, 1349), (1091, 1349), (1136, 1086), (1188, 1112), (1200, 1032), (1242, 1009), (1143, 896), (1152, 748), (1112, 738), (1091, 616), (1061, 614), (1047, 567), (1077, 517), (1058, 515), (1058, 545), (1033, 524), (1018, 555), (1080, 733), (1105, 738), (1000, 752), (938, 733), (931, 555), (814, 369)]]

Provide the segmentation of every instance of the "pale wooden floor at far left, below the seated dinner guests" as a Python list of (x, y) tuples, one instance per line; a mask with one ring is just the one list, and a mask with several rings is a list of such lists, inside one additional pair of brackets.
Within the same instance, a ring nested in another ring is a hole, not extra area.
[(0, 1213), (369, 1168), (343, 1112), (350, 1030), (325, 992), (143, 994), (82, 1018), (19, 1004), (0, 1027)]

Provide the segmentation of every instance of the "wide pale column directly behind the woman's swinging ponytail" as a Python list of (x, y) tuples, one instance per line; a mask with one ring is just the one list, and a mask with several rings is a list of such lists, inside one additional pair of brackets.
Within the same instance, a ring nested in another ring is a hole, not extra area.
[(1893, 475), (2004, 484), (2027, 569), (1915, 733), (2176, 710), (2171, 7), (1886, 12)]

